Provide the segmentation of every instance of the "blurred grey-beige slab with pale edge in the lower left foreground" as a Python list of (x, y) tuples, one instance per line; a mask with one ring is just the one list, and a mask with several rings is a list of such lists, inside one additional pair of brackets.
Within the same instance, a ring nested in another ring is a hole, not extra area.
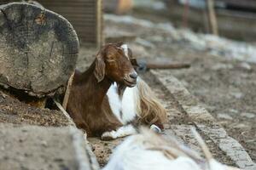
[(1, 170), (96, 170), (91, 153), (75, 127), (0, 124)]

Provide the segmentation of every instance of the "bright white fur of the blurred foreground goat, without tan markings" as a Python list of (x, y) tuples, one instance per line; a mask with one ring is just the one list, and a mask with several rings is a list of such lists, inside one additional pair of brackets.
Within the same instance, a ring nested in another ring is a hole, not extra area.
[(189, 157), (168, 159), (160, 150), (148, 150), (138, 136), (131, 136), (120, 144), (103, 170), (201, 170)]

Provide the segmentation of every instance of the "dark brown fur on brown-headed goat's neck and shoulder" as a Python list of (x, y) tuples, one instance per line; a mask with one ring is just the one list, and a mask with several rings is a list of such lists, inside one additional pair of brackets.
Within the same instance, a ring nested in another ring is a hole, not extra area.
[(88, 136), (99, 136), (105, 131), (121, 126), (121, 123), (111, 113), (105, 95), (112, 82), (107, 78), (102, 82), (97, 82), (93, 75), (94, 65), (95, 62), (84, 74), (79, 71), (75, 72), (67, 103), (67, 112)]

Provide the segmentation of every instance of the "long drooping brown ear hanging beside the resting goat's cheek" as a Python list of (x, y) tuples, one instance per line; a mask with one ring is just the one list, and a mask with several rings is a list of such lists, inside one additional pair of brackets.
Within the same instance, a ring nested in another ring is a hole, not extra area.
[(94, 76), (96, 77), (98, 82), (102, 82), (103, 78), (105, 77), (105, 62), (103, 59), (102, 52), (100, 51), (96, 55), (96, 62), (95, 62), (95, 70), (94, 70)]

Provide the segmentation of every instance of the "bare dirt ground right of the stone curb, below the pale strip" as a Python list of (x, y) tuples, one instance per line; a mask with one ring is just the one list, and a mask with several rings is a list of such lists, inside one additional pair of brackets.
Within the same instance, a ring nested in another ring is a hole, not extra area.
[(212, 54), (211, 50), (176, 41), (169, 32), (148, 26), (149, 20), (143, 21), (119, 22), (107, 17), (105, 34), (112, 37), (122, 31), (136, 35), (134, 41), (129, 37), (127, 41), (137, 58), (167, 58), (190, 63), (189, 69), (170, 70), (170, 74), (183, 82), (256, 161), (256, 65), (242, 59), (230, 59), (221, 51)]

